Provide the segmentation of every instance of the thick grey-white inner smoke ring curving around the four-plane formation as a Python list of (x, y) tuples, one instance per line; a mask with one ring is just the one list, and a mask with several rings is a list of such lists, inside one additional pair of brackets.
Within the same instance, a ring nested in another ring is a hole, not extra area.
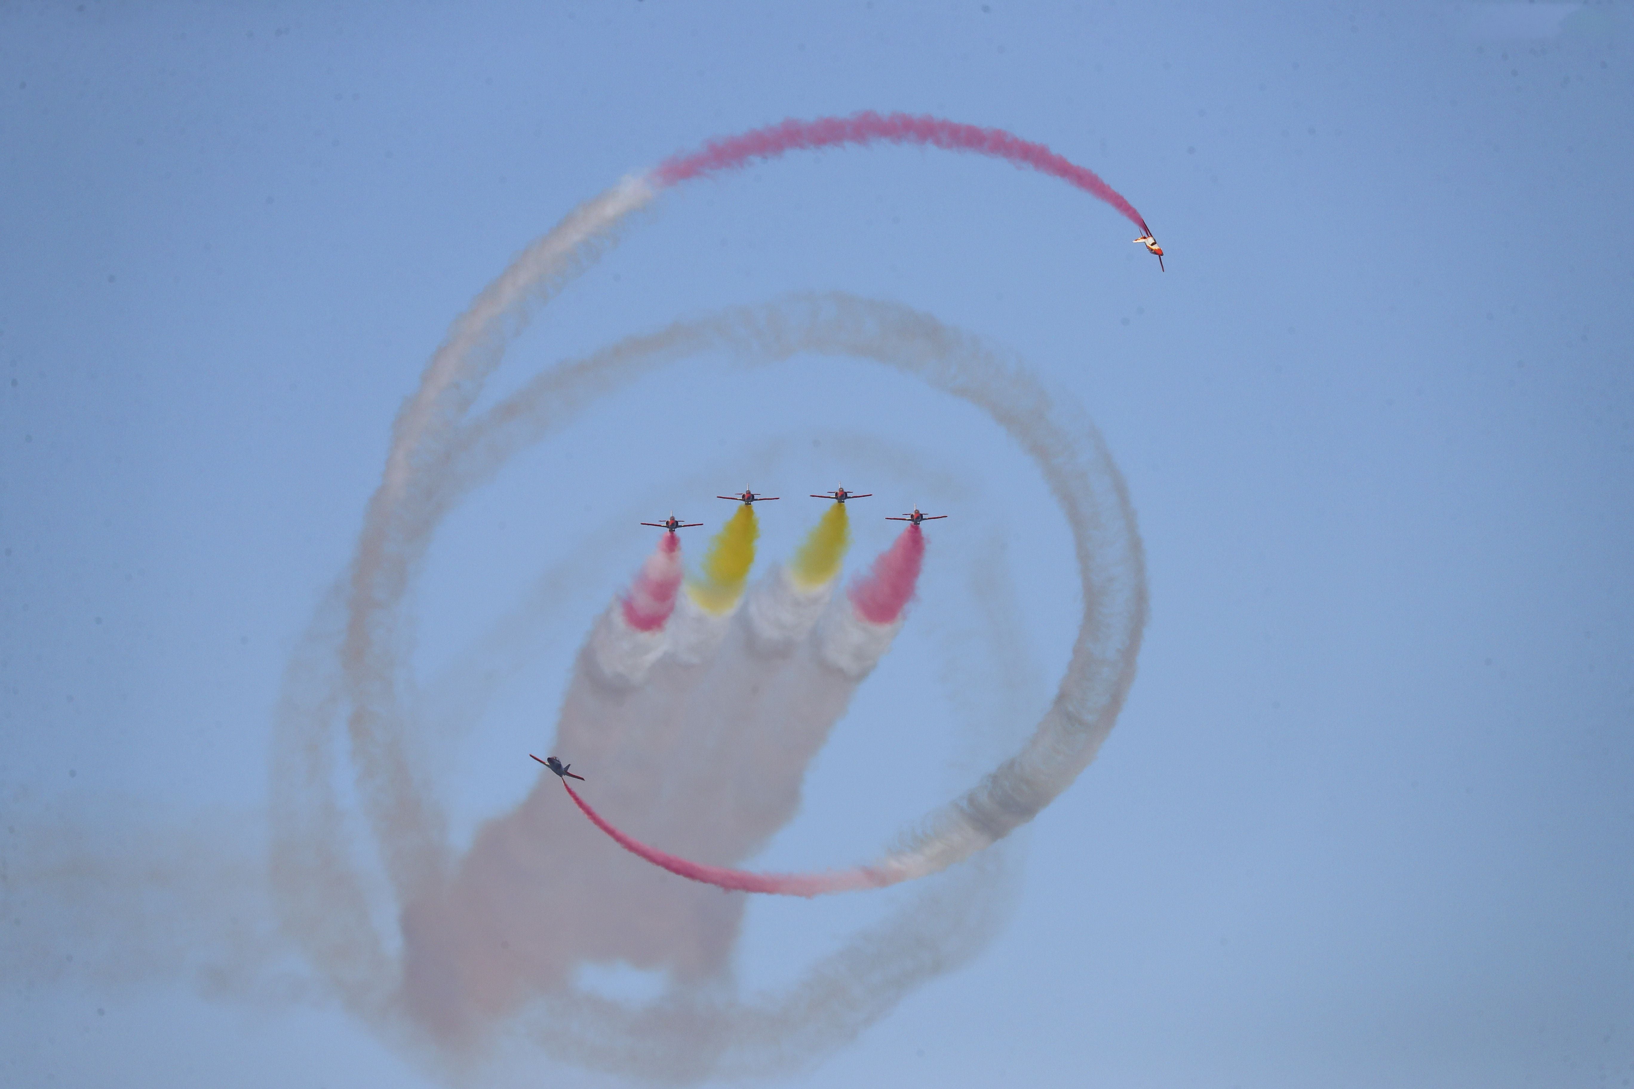
[(833, 875), (832, 891), (933, 873), (1033, 820), (1095, 758), (1134, 681), (1145, 622), (1144, 555), (1127, 488), (1100, 433), (980, 338), (926, 313), (843, 292), (789, 296), (676, 322), (546, 371), (472, 421), (451, 451), (444, 501), (547, 438), (588, 397), (704, 351), (729, 353), (743, 366), (802, 353), (871, 359), (982, 408), (1039, 465), (1072, 527), (1083, 585), (1083, 620), (1056, 700), (1020, 753), (928, 815), (897, 851)]

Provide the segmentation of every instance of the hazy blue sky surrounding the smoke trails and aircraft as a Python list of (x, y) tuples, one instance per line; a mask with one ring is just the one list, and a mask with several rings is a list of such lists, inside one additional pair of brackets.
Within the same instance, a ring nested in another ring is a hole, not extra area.
[[(222, 939), (227, 975), (176, 968), (188, 913), (258, 926), (275, 700), (392, 418), (580, 201), (871, 108), (1096, 170), (1167, 273), (1003, 163), (794, 155), (665, 194), (495, 379), (840, 289), (1020, 353), (1127, 478), (1152, 617), (1109, 743), (1016, 844), (987, 950), (786, 1084), (1631, 1084), (1631, 47), (1613, 5), (7, 7), (0, 1079), (438, 1084), (270, 932)], [(456, 841), (531, 787), (574, 648), (652, 547), (634, 522), (786, 495), (766, 563), (820, 513), (792, 496), (840, 480), (877, 495), (853, 568), (877, 516), (954, 518), (753, 864), (868, 859), (1031, 728), (1077, 586), (1020, 451), (871, 364), (699, 359), (436, 536), (412, 653)], [(484, 643), (542, 571), (549, 629)], [(472, 697), (498, 645), (521, 665)], [(124, 869), (21, 888), (47, 841)], [(160, 901), (144, 859), (176, 867)], [(892, 895), (750, 905), (742, 986)], [(523, 1042), (482, 1078), (606, 1084)]]

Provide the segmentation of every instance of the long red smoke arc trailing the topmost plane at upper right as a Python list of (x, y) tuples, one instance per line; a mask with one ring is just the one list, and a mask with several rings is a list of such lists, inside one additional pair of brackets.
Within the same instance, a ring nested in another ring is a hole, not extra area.
[(796, 149), (809, 150), (842, 144), (873, 144), (876, 140), (930, 144), (949, 152), (975, 152), (977, 155), (1005, 158), (1016, 167), (1031, 167), (1039, 173), (1060, 178), (1067, 184), (1106, 201), (1139, 227), (1142, 233), (1150, 233), (1145, 220), (1141, 219), (1141, 212), (1134, 211), (1134, 204), (1101, 181), (1093, 170), (1078, 167), (1042, 144), (1023, 140), (1003, 129), (982, 129), (974, 124), (959, 124), (928, 114), (892, 113), (881, 116), (873, 109), (866, 109), (850, 118), (817, 118), (815, 121), (796, 121), (791, 118), (765, 129), (750, 129), (739, 136), (709, 140), (701, 150), (667, 158), (652, 171), (652, 180), (668, 186), (717, 170), (735, 170), (747, 165), (752, 158), (776, 158), (783, 152)]

